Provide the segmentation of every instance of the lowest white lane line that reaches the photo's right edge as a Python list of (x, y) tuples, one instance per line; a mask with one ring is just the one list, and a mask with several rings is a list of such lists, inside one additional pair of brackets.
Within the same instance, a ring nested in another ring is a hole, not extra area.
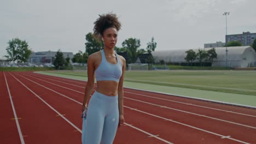
[(168, 107), (168, 106), (162, 106), (162, 105), (157, 105), (157, 104), (153, 104), (153, 103), (148, 103), (148, 102), (142, 101), (142, 100), (127, 98), (127, 97), (125, 97), (125, 98), (126, 98), (126, 99), (130, 99), (130, 100), (134, 100), (134, 101), (139, 101), (139, 102), (141, 102), (141, 103), (145, 103), (145, 104), (149, 104), (149, 105), (160, 106), (160, 107), (163, 107), (163, 108), (165, 108), (165, 109), (171, 109), (171, 110), (175, 110), (175, 111), (180, 111), (180, 112), (184, 112), (184, 113), (189, 113), (189, 114), (191, 114), (191, 115), (206, 117), (206, 118), (210, 118), (210, 119), (215, 119), (215, 120), (217, 120), (217, 121), (222, 121), (222, 122), (226, 122), (226, 123), (232, 123), (232, 124), (236, 124), (236, 125), (241, 125), (241, 126), (243, 126), (243, 127), (248, 127), (248, 128), (256, 129), (256, 127), (252, 127), (252, 126), (250, 126), (250, 125), (245, 125), (245, 124), (241, 124), (241, 123), (230, 122), (230, 121), (226, 121), (226, 120), (224, 120), (224, 119), (219, 119), (219, 118), (209, 117), (209, 116), (205, 116), (205, 115), (200, 115), (200, 114), (197, 114), (197, 113), (194, 113), (194, 112), (188, 112), (188, 111), (173, 109), (173, 108)]

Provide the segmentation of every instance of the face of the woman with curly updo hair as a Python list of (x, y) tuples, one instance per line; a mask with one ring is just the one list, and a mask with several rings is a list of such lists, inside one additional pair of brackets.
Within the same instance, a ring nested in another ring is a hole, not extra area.
[(117, 44), (117, 40), (118, 40), (117, 29), (114, 27), (110, 27), (110, 28), (106, 29), (106, 31), (104, 31), (104, 33), (103, 33), (102, 39), (104, 41), (105, 47), (114, 48), (115, 44)]

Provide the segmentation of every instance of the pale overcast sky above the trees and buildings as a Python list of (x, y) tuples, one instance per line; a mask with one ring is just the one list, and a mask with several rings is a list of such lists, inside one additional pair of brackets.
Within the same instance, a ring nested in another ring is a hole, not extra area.
[(152, 37), (156, 51), (198, 49), (225, 41), (228, 34), (256, 33), (255, 0), (0, 0), (0, 56), (8, 41), (26, 40), (32, 51), (85, 51), (85, 35), (98, 14), (113, 12), (122, 28), (117, 46), (128, 38), (146, 49)]

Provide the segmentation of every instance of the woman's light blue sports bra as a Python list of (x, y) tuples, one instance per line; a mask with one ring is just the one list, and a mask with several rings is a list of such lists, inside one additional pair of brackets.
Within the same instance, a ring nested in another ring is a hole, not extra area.
[(120, 62), (120, 59), (115, 52), (115, 56), (117, 56), (117, 63), (112, 64), (109, 63), (105, 57), (104, 50), (101, 50), (101, 63), (98, 65), (95, 70), (96, 80), (97, 81), (118, 81), (122, 75), (123, 65)]

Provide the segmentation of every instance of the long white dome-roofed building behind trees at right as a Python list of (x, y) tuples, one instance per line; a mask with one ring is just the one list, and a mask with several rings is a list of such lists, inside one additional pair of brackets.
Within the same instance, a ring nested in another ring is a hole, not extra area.
[[(214, 47), (217, 53), (217, 59), (213, 59), (213, 67), (225, 67), (226, 66), (226, 47)], [(204, 50), (210, 50), (212, 48), (205, 48)], [(166, 63), (187, 63), (185, 57), (190, 49), (181, 50), (164, 50), (153, 51), (152, 56), (155, 62), (164, 60)], [(198, 49), (194, 49), (195, 52)], [(197, 60), (195, 62), (198, 62)], [(251, 46), (233, 46), (228, 47), (228, 67), (256, 67), (256, 52)]]

